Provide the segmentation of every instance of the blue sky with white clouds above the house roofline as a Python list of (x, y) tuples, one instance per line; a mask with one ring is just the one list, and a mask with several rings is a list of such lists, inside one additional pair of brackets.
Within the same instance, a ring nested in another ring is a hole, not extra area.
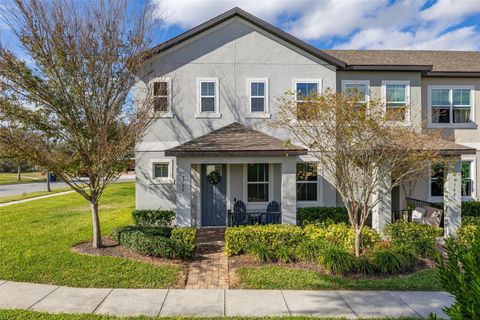
[[(322, 49), (480, 50), (480, 0), (145, 1), (165, 21), (157, 43), (238, 6)], [(0, 32), (15, 45), (8, 28)]]

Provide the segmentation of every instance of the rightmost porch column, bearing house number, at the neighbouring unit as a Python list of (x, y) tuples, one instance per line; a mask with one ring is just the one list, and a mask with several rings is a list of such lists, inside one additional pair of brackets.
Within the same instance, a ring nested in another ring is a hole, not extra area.
[(457, 235), (457, 229), (462, 223), (462, 162), (460, 158), (456, 159), (455, 164), (446, 170), (448, 171), (446, 172), (446, 179), (443, 186), (445, 236), (455, 237)]

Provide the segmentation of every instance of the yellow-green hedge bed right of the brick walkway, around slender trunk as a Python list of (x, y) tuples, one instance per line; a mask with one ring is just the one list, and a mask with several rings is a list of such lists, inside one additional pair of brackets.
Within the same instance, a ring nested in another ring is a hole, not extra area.
[(354, 255), (355, 232), (345, 224), (244, 226), (228, 228), (229, 256), (250, 254), (265, 262), (308, 262), (331, 274), (398, 274), (413, 270), (435, 250), (438, 228), (415, 223), (389, 226), (388, 240), (362, 231), (362, 255)]

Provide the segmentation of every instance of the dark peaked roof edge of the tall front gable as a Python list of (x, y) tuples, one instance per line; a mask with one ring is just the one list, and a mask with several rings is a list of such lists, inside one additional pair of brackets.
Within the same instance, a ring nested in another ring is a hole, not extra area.
[(236, 8), (233, 8), (227, 12), (224, 12), (222, 13), (221, 15), (219, 16), (216, 16), (215, 18), (211, 19), (211, 20), (208, 20), (207, 22), (204, 22), (198, 26), (196, 26), (195, 28), (193, 29), (190, 29), (188, 30), (187, 32), (184, 32), (182, 34), (180, 34), (179, 36), (176, 36), (175, 38), (172, 38), (168, 41), (165, 41), (155, 47), (153, 47), (152, 49), (149, 50), (149, 52), (146, 53), (146, 58), (149, 58), (149, 57), (152, 57), (162, 51), (165, 51), (165, 50), (168, 50), (172, 47), (175, 47), (176, 45), (192, 38), (192, 37), (195, 37), (199, 34), (201, 34), (202, 32), (205, 32), (206, 30), (212, 28), (212, 27), (215, 27), (216, 25), (219, 25), (220, 23), (222, 22), (225, 22), (233, 17), (240, 17), (248, 22), (250, 22), (251, 24), (257, 26), (258, 28), (262, 29), (262, 30), (265, 30), (271, 34), (273, 34), (274, 36), (296, 46), (297, 48), (319, 58), (319, 59), (322, 59), (324, 61), (326, 61), (327, 63), (335, 66), (335, 67), (340, 67), (340, 68), (343, 68), (345, 67), (345, 63), (331, 55), (329, 55), (328, 53), (325, 53), (324, 51), (318, 49), (318, 48), (315, 48), (314, 46), (306, 43), (305, 41), (302, 41), (300, 39), (298, 39), (297, 37), (294, 37), (292, 36), (291, 34), (269, 24), (268, 22), (260, 19), (260, 18), (257, 18), (255, 17), (254, 15), (236, 7)]

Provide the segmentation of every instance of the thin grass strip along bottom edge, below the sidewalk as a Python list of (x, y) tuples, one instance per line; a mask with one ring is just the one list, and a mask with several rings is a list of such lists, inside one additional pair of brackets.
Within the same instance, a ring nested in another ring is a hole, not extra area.
[[(20, 311), (20, 310), (0, 310), (0, 319), (8, 320), (31, 320), (31, 319), (41, 319), (41, 320), (221, 320), (221, 319), (232, 319), (232, 320), (282, 320), (282, 319), (296, 319), (296, 320), (342, 320), (346, 318), (317, 318), (317, 317), (262, 317), (262, 318), (247, 318), (247, 317), (226, 317), (226, 318), (192, 318), (192, 317), (113, 317), (113, 316), (98, 316), (92, 314), (49, 314), (43, 312), (34, 312), (34, 311)], [(375, 318), (376, 320), (413, 320), (419, 318)], [(366, 319), (365, 319), (366, 320)]]

